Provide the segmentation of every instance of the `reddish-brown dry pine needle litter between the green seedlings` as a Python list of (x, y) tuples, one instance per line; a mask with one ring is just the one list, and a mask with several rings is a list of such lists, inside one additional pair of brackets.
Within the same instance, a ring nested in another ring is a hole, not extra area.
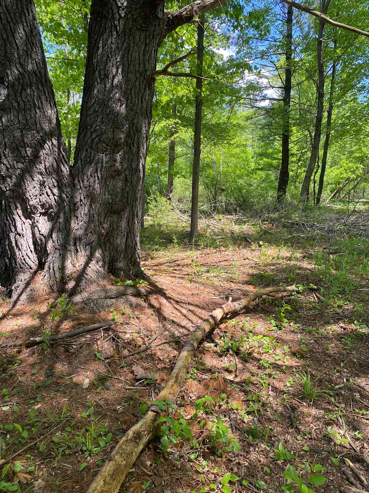
[[(155, 346), (152, 351), (145, 352), (141, 356), (137, 354), (124, 359), (127, 366), (119, 367), (123, 353), (139, 349), (140, 345), (146, 345), (151, 336), (154, 337), (154, 334), (162, 331), (163, 326), (168, 331), (163, 333), (157, 342), (165, 342), (175, 336), (180, 336), (182, 340), (185, 340), (193, 325), (204, 318), (206, 313), (223, 303), (229, 295), (233, 299), (238, 299), (244, 295), (245, 288), (251, 288), (249, 274), (255, 274), (255, 270), (258, 269), (255, 267), (258, 255), (259, 251), (252, 251), (250, 255), (249, 250), (242, 248), (232, 252), (234, 261), (240, 265), (239, 272), (237, 275), (234, 272), (229, 274), (228, 279), (227, 274), (223, 274), (219, 283), (216, 277), (210, 281), (204, 278), (195, 279), (190, 283), (188, 278), (191, 275), (191, 266), (188, 261), (189, 257), (183, 259), (184, 253), (181, 253), (182, 259), (179, 258), (170, 263), (151, 261), (148, 268), (152, 272), (155, 271), (153, 263), (160, 264), (158, 268), (164, 271), (164, 274), (156, 278), (156, 282), (163, 288), (166, 295), (152, 295), (147, 305), (126, 310), (125, 315), (119, 315), (119, 322), (114, 324), (113, 329), (105, 330), (103, 333), (96, 332), (80, 336), (74, 340), (76, 346), (58, 344), (46, 349), (35, 347), (8, 350), (1, 355), (2, 377), (9, 372), (7, 364), (12, 363), (12, 357), (18, 356), (21, 364), (8, 378), (2, 378), (2, 387), (9, 390), (9, 398), (2, 397), (3, 407), (7, 405), (10, 407), (7, 411), (1, 412), (1, 423), (19, 423), (25, 426), (26, 420), (29, 419), (29, 409), (38, 402), (31, 404), (30, 400), (39, 396), (40, 407), (36, 410), (36, 419), (45, 421), (34, 435), (29, 433), (31, 442), (53, 427), (54, 422), (51, 421), (50, 416), (60, 416), (64, 406), (66, 413), (75, 417), (73, 431), (81, 430), (84, 426), (91, 424), (92, 419), (82, 418), (81, 414), (86, 412), (88, 403), (92, 403), (93, 416), (98, 418), (96, 423), (106, 424), (108, 430), (113, 432), (112, 446), (116, 445), (119, 434), (123, 434), (138, 421), (139, 407), (142, 402), (159, 393), (164, 384), (165, 375), (171, 371), (178, 357), (180, 345), (172, 341), (162, 347)], [(251, 256), (254, 260), (248, 259)], [(228, 259), (229, 252), (216, 250), (206, 252), (206, 254), (200, 253), (197, 257), (203, 265), (220, 265), (223, 268), (227, 267), (227, 262), (229, 268), (231, 267)], [(176, 267), (180, 270), (174, 270)], [(262, 270), (265, 272), (265, 268)], [(238, 279), (235, 279), (237, 276)], [(229, 279), (230, 277), (232, 279)], [(150, 491), (153, 492), (164, 490), (187, 492), (193, 489), (198, 491), (202, 485), (200, 476), (204, 477), (205, 485), (208, 485), (211, 482), (216, 483), (225, 472), (235, 473), (239, 477), (246, 477), (250, 480), (259, 478), (268, 485), (271, 491), (281, 491), (285, 463), (275, 461), (273, 451), (279, 441), (283, 443), (284, 448), (299, 453), (299, 460), (296, 464), (310, 461), (320, 463), (327, 468), (324, 473), (327, 477), (327, 485), (324, 489), (316, 488), (316, 491), (337, 492), (339, 485), (348, 486), (341, 468), (334, 466), (329, 459), (330, 455), (338, 456), (343, 452), (352, 452), (348, 445), (336, 445), (327, 435), (328, 428), (335, 430), (339, 428), (337, 421), (332, 419), (337, 414), (337, 405), (325, 397), (310, 404), (298, 397), (296, 387), (288, 387), (287, 380), (294, 375), (293, 368), (299, 370), (306, 365), (308, 360), (311, 360), (311, 375), (317, 380), (317, 386), (324, 389), (330, 384), (330, 388), (335, 390), (335, 398), (341, 404), (350, 439), (360, 453), (368, 454), (368, 440), (364, 438), (360, 441), (354, 436), (355, 427), (358, 426), (364, 437), (369, 435), (367, 415), (360, 415), (354, 411), (355, 408), (368, 410), (365, 405), (355, 400), (360, 399), (368, 404), (368, 341), (361, 340), (355, 352), (347, 350), (343, 339), (352, 330), (350, 324), (329, 323), (331, 315), (329, 317), (324, 317), (324, 315), (315, 317), (314, 315), (314, 319), (311, 319), (311, 315), (304, 315), (302, 310), (300, 310), (298, 320), (301, 326), (296, 327), (290, 323), (283, 331), (270, 332), (267, 330), (270, 326), (268, 316), (277, 313), (276, 303), (279, 298), (280, 295), (270, 303), (263, 303), (260, 307), (256, 306), (254, 313), (251, 312), (248, 316), (238, 317), (237, 320), (240, 323), (236, 327), (231, 322), (224, 323), (213, 335), (214, 341), (218, 341), (223, 333), (241, 333), (244, 321), (248, 327), (257, 323), (257, 327), (254, 328), (255, 333), (276, 336), (279, 348), (274, 347), (272, 353), (264, 353), (259, 347), (249, 355), (247, 361), (239, 358), (239, 372), (235, 377), (235, 372), (232, 370), (233, 356), (227, 353), (220, 354), (216, 346), (211, 346), (212, 340), (208, 340), (198, 349), (196, 359), (192, 362), (192, 369), (196, 370), (198, 377), (196, 383), (190, 383), (191, 381), (188, 380), (178, 398), (178, 404), (184, 406), (185, 416), (189, 416), (196, 399), (204, 393), (216, 397), (218, 393), (224, 392), (232, 401), (246, 407), (249, 404), (247, 397), (261, 392), (262, 412), (257, 416), (250, 414), (247, 420), (239, 417), (237, 421), (238, 428), (235, 429), (235, 436), (241, 443), (241, 452), (217, 458), (206, 446), (203, 430), (195, 425), (193, 434), (200, 443), (200, 455), (197, 458), (193, 461), (189, 459), (188, 454), (193, 452), (189, 444), (181, 444), (182, 448), (173, 447), (170, 453), (163, 455), (157, 443), (150, 443), (136, 464), (132, 466), (132, 471), (128, 474), (121, 491), (141, 492), (148, 480), (152, 481)], [(11, 335), (4, 337), (0, 342), (26, 339), (39, 334), (39, 322), (34, 320), (32, 315), (36, 307), (46, 313), (46, 301), (41, 297), (33, 306), (22, 306), (14, 309), (12, 313), (7, 313), (8, 318), (3, 317), (1, 320), (0, 331), (10, 332)], [(313, 303), (315, 300), (312, 294), (308, 293), (300, 297), (301, 307), (310, 307)], [(6, 313), (5, 303), (0, 307), (0, 311)], [(128, 313), (141, 318), (128, 317)], [(107, 310), (98, 314), (97, 319), (109, 320), (111, 315), (110, 310)], [(94, 315), (79, 310), (78, 316), (69, 317), (67, 321), (62, 322), (61, 328), (66, 330), (94, 321)], [(47, 318), (45, 323), (50, 323)], [(332, 329), (332, 332), (325, 332), (324, 337), (314, 338), (316, 332), (305, 333), (305, 329), (312, 325)], [(305, 338), (304, 346), (308, 349), (309, 358), (290, 351), (293, 347), (296, 350), (296, 345), (299, 345), (299, 336)], [(330, 350), (327, 349), (328, 342), (330, 342)], [(275, 361), (278, 356), (277, 351), (282, 353), (282, 360)], [(95, 352), (110, 357), (103, 362), (96, 358)], [(288, 356), (288, 361), (284, 360), (285, 356)], [(261, 359), (267, 359), (270, 368), (265, 368), (260, 363)], [(343, 368), (341, 362), (344, 363)], [(132, 371), (135, 364), (140, 365), (149, 374), (153, 372), (164, 375), (161, 376), (163, 382), (159, 384), (137, 383)], [(283, 366), (286, 367), (285, 372)], [(98, 387), (93, 382), (97, 382), (99, 375), (109, 374), (110, 370), (115, 378), (108, 379), (108, 382), (103, 383), (102, 388), (97, 391)], [(337, 372), (333, 373), (333, 370)], [(278, 376), (276, 376), (276, 371)], [(218, 378), (212, 379), (215, 375), (218, 375)], [(266, 376), (273, 378), (264, 388), (260, 380), (265, 380)], [(89, 387), (83, 389), (82, 386), (87, 379), (89, 379)], [(285, 391), (289, 395), (289, 407), (285, 405), (283, 399)], [(14, 405), (19, 409), (18, 412), (13, 411)], [(291, 409), (299, 420), (301, 433), (291, 423)], [(220, 414), (227, 423), (228, 408), (218, 405), (215, 409), (216, 414)], [(232, 420), (236, 419), (234, 418), (235, 412), (231, 417)], [(215, 419), (215, 416), (212, 419)], [(243, 430), (249, 428), (254, 421), (262, 429), (270, 427), (270, 433), (266, 439), (257, 439), (251, 443)], [(64, 427), (65, 424), (61, 426), (61, 432)], [(11, 433), (11, 436), (16, 436), (15, 431)], [(23, 478), (26, 481), (26, 486), (23, 488), (26, 491), (32, 482), (41, 480), (44, 485), (41, 491), (45, 492), (72, 492), (76, 491), (76, 488), (77, 491), (87, 490), (92, 477), (99, 469), (97, 460), (104, 460), (112, 448), (109, 446), (103, 448), (101, 452), (89, 458), (85, 458), (80, 451), (75, 451), (67, 456), (62, 455), (62, 459), (55, 465), (55, 454), (51, 447), (52, 436), (59, 435), (53, 434), (45, 439), (47, 447), (44, 452), (39, 451), (39, 444), (37, 444), (17, 458), (24, 464), (23, 471), (27, 471), (29, 466), (35, 467), (34, 471), (27, 472), (30, 478)], [(301, 439), (299, 439), (300, 436)], [(3, 431), (1, 437), (4, 437)], [(25, 444), (27, 443), (26, 441)], [(302, 452), (304, 445), (307, 445), (310, 450)], [(18, 443), (9, 450), (15, 453), (22, 447), (23, 444)], [(159, 465), (155, 462), (155, 458), (159, 458)], [(203, 460), (207, 461), (207, 469), (204, 469), (202, 465)], [(360, 458), (353, 455), (351, 461), (360, 468), (362, 474), (366, 474)], [(80, 464), (85, 462), (87, 466), (79, 472)], [(188, 464), (192, 464), (189, 472), (187, 472)], [(202, 466), (205, 472), (199, 472), (196, 465)], [(220, 474), (215, 467), (221, 470)], [(266, 472), (266, 468), (269, 468), (270, 473)], [(256, 486), (255, 483), (250, 484), (253, 487)], [(239, 482), (232, 487), (235, 491), (244, 491)]]

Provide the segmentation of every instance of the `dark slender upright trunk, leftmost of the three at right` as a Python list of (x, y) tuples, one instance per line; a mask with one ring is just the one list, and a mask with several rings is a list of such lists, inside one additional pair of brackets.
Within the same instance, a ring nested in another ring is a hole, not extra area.
[(286, 34), (286, 69), (284, 76), (284, 94), (283, 94), (283, 121), (282, 121), (282, 160), (278, 178), (277, 204), (283, 204), (289, 174), (289, 156), (290, 156), (290, 103), (291, 103), (291, 85), (292, 85), (292, 23), (293, 7), (288, 5), (287, 8), (287, 34)]

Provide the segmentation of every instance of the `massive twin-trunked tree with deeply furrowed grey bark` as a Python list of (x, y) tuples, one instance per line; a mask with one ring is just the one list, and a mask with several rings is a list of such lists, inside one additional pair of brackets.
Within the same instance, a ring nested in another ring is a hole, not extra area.
[(0, 283), (13, 300), (41, 271), (54, 290), (72, 274), (72, 291), (109, 274), (141, 275), (158, 46), (225, 1), (196, 0), (173, 13), (164, 0), (92, 1), (73, 178), (33, 2), (0, 3)]

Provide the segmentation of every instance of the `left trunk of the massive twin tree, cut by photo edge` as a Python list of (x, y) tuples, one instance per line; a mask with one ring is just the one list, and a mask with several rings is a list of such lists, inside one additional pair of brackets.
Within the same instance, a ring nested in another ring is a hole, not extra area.
[(72, 188), (33, 1), (2, 0), (0, 32), (0, 284), (18, 302), (70, 268)]

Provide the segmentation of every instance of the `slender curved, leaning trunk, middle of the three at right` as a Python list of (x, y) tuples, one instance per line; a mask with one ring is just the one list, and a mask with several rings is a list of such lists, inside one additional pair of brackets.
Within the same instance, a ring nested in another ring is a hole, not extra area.
[[(330, 0), (322, 0), (320, 11), (327, 13)], [(318, 62), (318, 82), (316, 85), (317, 111), (315, 119), (314, 138), (311, 147), (310, 159), (307, 165), (304, 181), (301, 187), (300, 198), (306, 202), (309, 197), (311, 176), (315, 168), (316, 158), (318, 155), (320, 137), (322, 133), (323, 105), (324, 105), (324, 62), (323, 62), (323, 31), (324, 21), (319, 21), (319, 31), (317, 38), (317, 62)]]

